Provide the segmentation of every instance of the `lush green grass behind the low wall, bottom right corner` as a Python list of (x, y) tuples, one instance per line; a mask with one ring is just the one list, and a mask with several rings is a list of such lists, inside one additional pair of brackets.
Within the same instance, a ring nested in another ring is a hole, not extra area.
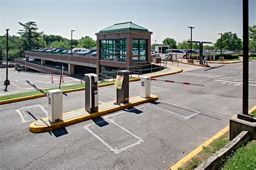
[(256, 169), (256, 140), (238, 148), (221, 165), (220, 169)]

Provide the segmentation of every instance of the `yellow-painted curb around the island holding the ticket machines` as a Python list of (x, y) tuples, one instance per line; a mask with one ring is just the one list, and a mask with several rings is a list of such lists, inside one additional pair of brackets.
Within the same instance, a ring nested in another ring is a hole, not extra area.
[[(92, 114), (86, 114), (86, 115), (83, 115), (83, 116), (74, 117), (74, 118), (71, 118), (71, 119), (67, 119), (65, 121), (52, 123), (50, 125), (36, 125), (37, 122), (48, 119), (46, 117), (46, 118), (42, 118), (42, 119), (39, 119), (38, 121), (35, 121), (35, 122), (31, 123), (29, 125), (29, 130), (31, 132), (36, 132), (36, 133), (48, 132), (48, 131), (52, 131), (52, 130), (55, 130), (55, 129), (58, 129), (58, 128), (63, 128), (65, 126), (76, 124), (76, 123), (79, 123), (79, 122), (87, 121), (87, 120), (89, 120), (91, 118), (94, 118), (94, 117), (103, 116), (103, 115), (110, 114), (110, 113), (115, 112), (115, 111), (123, 110), (123, 109), (130, 108), (130, 107), (134, 107), (135, 105), (139, 105), (139, 104), (143, 104), (143, 103), (150, 102), (150, 101), (155, 101), (155, 100), (158, 100), (158, 96), (151, 95), (151, 97), (144, 98), (144, 99), (139, 100), (139, 101), (120, 104), (120, 105), (117, 105), (116, 107), (100, 110), (100, 111), (94, 112)], [(113, 102), (111, 102), (111, 103), (113, 103)], [(83, 109), (79, 109), (79, 110), (83, 110)], [(75, 111), (79, 111), (79, 110), (75, 110)], [(71, 112), (75, 112), (75, 111), (71, 111)], [(69, 113), (70, 112), (66, 112), (64, 114), (69, 114)]]

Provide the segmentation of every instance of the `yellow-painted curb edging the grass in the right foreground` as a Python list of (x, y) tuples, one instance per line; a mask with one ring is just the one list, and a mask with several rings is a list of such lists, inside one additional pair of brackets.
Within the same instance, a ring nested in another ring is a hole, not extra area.
[[(253, 112), (254, 110), (256, 110), (256, 105), (254, 105), (253, 108), (251, 108), (248, 113), (251, 114), (251, 112)], [(186, 155), (186, 157), (184, 157), (183, 159), (179, 160), (176, 164), (174, 164), (172, 167), (170, 167), (171, 170), (174, 169), (178, 169), (179, 167), (181, 167), (182, 165), (184, 165), (188, 160), (190, 160), (191, 158), (193, 158), (195, 155), (197, 155), (199, 152), (203, 151), (203, 148), (205, 146), (210, 145), (215, 139), (223, 136), (224, 133), (228, 132), (228, 130), (230, 129), (230, 126), (226, 126), (226, 128), (224, 128), (223, 130), (219, 131), (217, 134), (215, 134), (213, 137), (211, 137), (210, 139), (208, 139), (205, 143), (201, 144), (199, 147), (197, 147), (194, 151), (188, 153)]]

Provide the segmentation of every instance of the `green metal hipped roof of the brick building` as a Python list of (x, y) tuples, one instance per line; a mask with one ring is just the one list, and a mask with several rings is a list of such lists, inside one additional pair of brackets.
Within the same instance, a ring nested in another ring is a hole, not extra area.
[(114, 24), (112, 26), (107, 27), (106, 29), (100, 30), (99, 32), (112, 32), (112, 31), (123, 31), (123, 30), (148, 31), (142, 26), (133, 24), (132, 22), (127, 22), (127, 23)]

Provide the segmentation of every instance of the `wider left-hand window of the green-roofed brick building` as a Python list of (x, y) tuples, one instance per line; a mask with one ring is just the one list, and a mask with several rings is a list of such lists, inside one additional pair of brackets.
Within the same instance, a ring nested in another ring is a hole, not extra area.
[(126, 39), (100, 40), (100, 60), (126, 62)]

